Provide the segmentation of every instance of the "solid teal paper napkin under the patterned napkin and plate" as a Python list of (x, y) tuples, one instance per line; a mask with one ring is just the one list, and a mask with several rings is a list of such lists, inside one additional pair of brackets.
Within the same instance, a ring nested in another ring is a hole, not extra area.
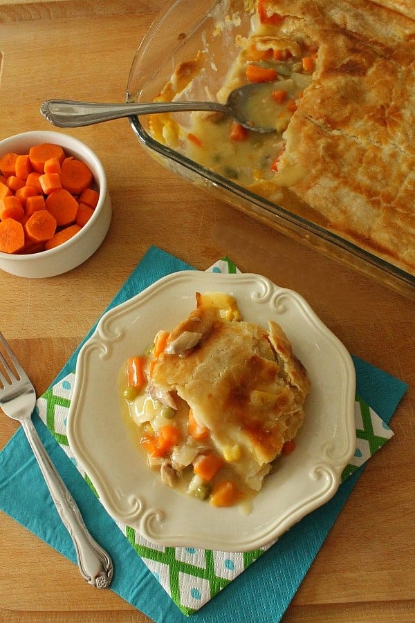
[[(191, 267), (157, 248), (150, 248), (109, 307), (120, 304), (156, 279), (177, 270), (191, 270)], [(53, 385), (75, 369), (78, 350)], [(407, 386), (356, 357), (353, 361), (357, 373), (357, 393), (383, 421), (389, 421)], [(107, 548), (113, 559), (115, 572), (111, 589), (157, 623), (189, 621), (102, 508), (43, 422), (37, 416), (34, 416), (34, 421), (91, 533)], [(265, 623), (279, 621), (361, 472), (362, 468), (349, 476), (329, 503), (286, 532), (255, 564), (194, 613), (191, 621), (221, 623), (227, 620), (232, 623), (241, 617)], [(72, 541), (60, 523), (21, 429), (0, 453), (0, 508), (68, 559), (76, 561)]]

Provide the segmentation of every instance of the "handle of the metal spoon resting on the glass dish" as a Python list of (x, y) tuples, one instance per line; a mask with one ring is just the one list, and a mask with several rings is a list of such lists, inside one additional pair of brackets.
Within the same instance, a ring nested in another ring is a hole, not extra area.
[(181, 111), (219, 111), (229, 113), (225, 104), (218, 102), (151, 102), (149, 104), (98, 104), (73, 100), (46, 100), (40, 112), (59, 128), (78, 128), (130, 117), (154, 113)]

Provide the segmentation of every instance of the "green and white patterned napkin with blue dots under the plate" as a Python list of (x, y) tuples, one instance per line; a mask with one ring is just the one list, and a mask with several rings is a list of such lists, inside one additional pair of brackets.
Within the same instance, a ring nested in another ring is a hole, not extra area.
[[(208, 270), (240, 272), (228, 258), (216, 262)], [(95, 492), (88, 474), (85, 474), (82, 467), (77, 464), (66, 436), (66, 418), (71, 405), (74, 380), (75, 374), (70, 373), (48, 389), (37, 400), (37, 409), (40, 418)], [(359, 396), (356, 396), (355, 417), (356, 453), (351, 463), (344, 469), (342, 481), (353, 474), (393, 436), (391, 429)], [(121, 523), (117, 525), (185, 615), (192, 615), (198, 611), (275, 543), (273, 541), (264, 548), (250, 552), (159, 547), (143, 539), (133, 528)]]

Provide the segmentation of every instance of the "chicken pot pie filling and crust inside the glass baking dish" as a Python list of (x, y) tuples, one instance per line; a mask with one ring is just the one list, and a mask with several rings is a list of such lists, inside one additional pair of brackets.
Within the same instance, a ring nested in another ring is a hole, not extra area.
[[(415, 275), (414, 3), (258, 0), (246, 11), (250, 34), (236, 37), (237, 62), (212, 98), (263, 84), (275, 133), (192, 113), (186, 126), (153, 115), (154, 138)], [(190, 99), (203, 54), (158, 99)]]

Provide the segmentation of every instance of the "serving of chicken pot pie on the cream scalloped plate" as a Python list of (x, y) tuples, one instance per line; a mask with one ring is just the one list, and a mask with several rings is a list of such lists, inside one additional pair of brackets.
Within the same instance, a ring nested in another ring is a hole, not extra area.
[(240, 503), (291, 452), (310, 380), (282, 328), (241, 318), (230, 295), (196, 293), (196, 309), (131, 357), (123, 395), (150, 467), (170, 487)]

